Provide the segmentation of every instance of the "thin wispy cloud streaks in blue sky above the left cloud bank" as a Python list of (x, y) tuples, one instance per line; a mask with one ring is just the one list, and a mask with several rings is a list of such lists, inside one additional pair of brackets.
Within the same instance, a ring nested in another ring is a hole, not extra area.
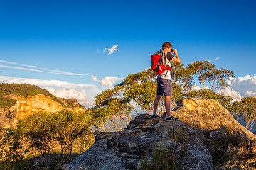
[[(61, 74), (61, 75), (69, 75), (69, 76), (90, 76), (91, 75), (90, 73), (79, 74), (79, 73), (61, 71), (61, 70), (57, 70), (57, 69), (41, 68), (38, 66), (21, 64), (21, 63), (17, 63), (17, 62), (8, 62), (8, 61), (4, 61), (4, 60), (0, 60), (0, 62), (5, 63), (5, 64), (0, 64), (0, 67), (9, 68), (9, 69), (21, 69), (21, 70), (26, 70), (26, 71), (31, 71), (31, 72), (42, 72), (42, 73)], [(9, 64), (9, 65), (6, 65), (6, 64)], [(14, 65), (23, 66), (23, 67), (16, 67)], [(33, 69), (31, 69), (31, 67)]]

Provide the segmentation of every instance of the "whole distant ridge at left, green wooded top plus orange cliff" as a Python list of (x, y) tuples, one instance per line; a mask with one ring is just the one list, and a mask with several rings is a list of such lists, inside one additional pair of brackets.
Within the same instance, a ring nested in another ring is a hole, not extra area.
[[(31, 84), (0, 84), (0, 123), (15, 126), (19, 119), (38, 111), (86, 111), (75, 99), (57, 98), (46, 89)], [(6, 121), (9, 115), (14, 116)]]

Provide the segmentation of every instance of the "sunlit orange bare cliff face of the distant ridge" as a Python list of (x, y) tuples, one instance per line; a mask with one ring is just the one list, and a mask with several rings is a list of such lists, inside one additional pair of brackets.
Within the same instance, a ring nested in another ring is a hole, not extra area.
[[(15, 99), (16, 104), (9, 108), (2, 108), (0, 106), (0, 123), (2, 127), (16, 126), (19, 119), (26, 118), (26, 116), (36, 113), (38, 111), (58, 112), (66, 111), (86, 111), (85, 107), (81, 106), (77, 100), (57, 98), (53, 100), (50, 96), (37, 94), (35, 96), (28, 96), (25, 98), (21, 95), (11, 94), (5, 98)], [(6, 115), (11, 112), (14, 114), (14, 120), (5, 121)]]

